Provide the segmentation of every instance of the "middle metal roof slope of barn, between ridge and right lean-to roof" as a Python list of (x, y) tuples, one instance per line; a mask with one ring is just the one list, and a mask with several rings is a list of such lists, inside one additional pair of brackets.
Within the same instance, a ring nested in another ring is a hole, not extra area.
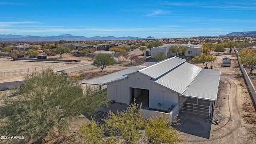
[(202, 68), (189, 63), (183, 63), (163, 76), (152, 80), (170, 90), (182, 94)]

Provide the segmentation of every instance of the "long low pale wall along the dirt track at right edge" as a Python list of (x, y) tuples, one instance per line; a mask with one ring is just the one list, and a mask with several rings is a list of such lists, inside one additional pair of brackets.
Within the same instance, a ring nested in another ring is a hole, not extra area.
[(256, 109), (256, 90), (255, 90), (255, 87), (254, 85), (252, 84), (252, 81), (250, 80), (245, 68), (244, 68), (244, 65), (243, 64), (240, 64), (239, 60), (240, 60), (240, 56), (238, 54), (238, 51), (236, 50), (236, 48), (234, 47), (234, 51), (236, 52), (236, 55), (237, 55), (237, 59), (238, 59), (238, 64), (239, 64), (239, 67), (240, 67), (240, 70), (242, 72), (242, 76), (244, 78), (244, 81), (245, 81), (245, 84), (248, 88), (248, 91), (249, 91), (249, 94), (252, 98), (252, 103), (254, 104), (254, 108)]

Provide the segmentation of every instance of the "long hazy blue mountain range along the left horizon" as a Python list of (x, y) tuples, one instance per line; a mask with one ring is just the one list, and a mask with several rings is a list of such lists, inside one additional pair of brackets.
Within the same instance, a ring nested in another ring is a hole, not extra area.
[(71, 34), (61, 34), (59, 36), (22, 36), (22, 35), (12, 35), (12, 34), (0, 34), (0, 41), (2, 42), (40, 42), (40, 41), (59, 41), (59, 40), (138, 40), (138, 39), (155, 39), (151, 36), (147, 38), (138, 38), (132, 36), (124, 36), (116, 38), (114, 36), (94, 36), (94, 37), (84, 37), (84, 36), (72, 36)]

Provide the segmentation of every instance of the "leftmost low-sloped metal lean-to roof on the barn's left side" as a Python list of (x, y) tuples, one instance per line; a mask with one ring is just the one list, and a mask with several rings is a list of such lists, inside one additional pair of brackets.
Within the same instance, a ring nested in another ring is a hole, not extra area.
[[(124, 76), (131, 72), (137, 72), (138, 70), (142, 69), (143, 67), (133, 67), (133, 68), (127, 68), (124, 70), (120, 70), (118, 72), (114, 72), (112, 74), (108, 74), (99, 78), (94, 78), (92, 80), (88, 80), (86, 82), (82, 82), (82, 84), (95, 84), (95, 85), (102, 85), (106, 84), (108, 82), (111, 82), (113, 80), (121, 80), (124, 78)], [(126, 76), (127, 77), (127, 76)]]

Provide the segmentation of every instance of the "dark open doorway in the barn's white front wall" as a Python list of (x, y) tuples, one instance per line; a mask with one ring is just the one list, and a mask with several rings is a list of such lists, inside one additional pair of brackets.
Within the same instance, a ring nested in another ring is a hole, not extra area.
[(149, 91), (141, 88), (130, 88), (130, 104), (134, 102), (137, 104), (142, 103), (142, 108), (148, 109), (148, 95)]

